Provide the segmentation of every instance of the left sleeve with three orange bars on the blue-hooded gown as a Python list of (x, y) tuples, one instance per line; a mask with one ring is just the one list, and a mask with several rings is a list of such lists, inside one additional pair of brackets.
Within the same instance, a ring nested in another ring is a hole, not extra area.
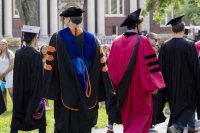
[(55, 33), (49, 42), (46, 64), (44, 65), (44, 87), (47, 90), (45, 98), (51, 100), (58, 100), (60, 97), (56, 40), (57, 34)]

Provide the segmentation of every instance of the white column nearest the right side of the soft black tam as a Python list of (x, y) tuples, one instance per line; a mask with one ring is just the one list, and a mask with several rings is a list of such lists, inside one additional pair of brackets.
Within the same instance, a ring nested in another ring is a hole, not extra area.
[(95, 0), (87, 1), (87, 28), (88, 31), (95, 34)]

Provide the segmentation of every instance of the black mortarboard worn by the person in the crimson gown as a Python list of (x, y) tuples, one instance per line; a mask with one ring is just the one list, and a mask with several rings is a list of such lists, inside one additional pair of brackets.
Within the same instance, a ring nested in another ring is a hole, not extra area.
[(137, 23), (137, 24), (141, 23), (144, 20), (144, 18), (140, 16), (140, 12), (141, 12), (141, 8), (129, 14), (124, 20), (124, 22), (120, 25), (120, 27), (129, 26), (134, 23)]

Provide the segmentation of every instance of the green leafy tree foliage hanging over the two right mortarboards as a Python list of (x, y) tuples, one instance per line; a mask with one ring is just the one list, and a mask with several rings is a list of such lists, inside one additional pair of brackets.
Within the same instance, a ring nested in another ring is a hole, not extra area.
[(146, 0), (143, 15), (153, 11), (153, 20), (160, 22), (167, 12), (174, 16), (185, 14), (192, 24), (200, 24), (200, 0)]

